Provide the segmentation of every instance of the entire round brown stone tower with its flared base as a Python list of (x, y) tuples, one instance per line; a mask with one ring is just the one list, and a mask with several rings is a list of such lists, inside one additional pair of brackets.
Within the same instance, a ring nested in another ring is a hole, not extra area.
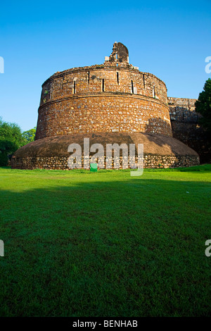
[[(11, 166), (68, 169), (69, 144), (83, 146), (86, 137), (103, 146), (144, 144), (145, 168), (196, 165), (198, 154), (172, 138), (167, 102), (176, 101), (167, 100), (165, 83), (129, 64), (127, 47), (115, 43), (103, 64), (55, 73), (44, 82), (35, 142), (16, 151)], [(115, 161), (113, 156), (113, 167)]]

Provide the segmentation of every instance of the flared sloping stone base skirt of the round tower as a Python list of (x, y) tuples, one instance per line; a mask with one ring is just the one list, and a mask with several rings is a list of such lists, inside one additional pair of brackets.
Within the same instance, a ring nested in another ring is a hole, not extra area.
[[(191, 166), (199, 163), (196, 151), (172, 137), (162, 135), (147, 135), (144, 133), (96, 133), (73, 134), (46, 137), (30, 142), (15, 152), (12, 158), (13, 168), (34, 169), (52, 168), (68, 169), (68, 146), (72, 143), (84, 146), (84, 137), (89, 138), (92, 144), (102, 144), (106, 168), (106, 144), (135, 144), (136, 156), (138, 144), (144, 146), (144, 168), (174, 168), (178, 166)], [(90, 153), (92, 156), (94, 153)], [(121, 155), (121, 154), (120, 154)], [(113, 158), (113, 163), (114, 163)], [(122, 167), (120, 161), (120, 168)]]

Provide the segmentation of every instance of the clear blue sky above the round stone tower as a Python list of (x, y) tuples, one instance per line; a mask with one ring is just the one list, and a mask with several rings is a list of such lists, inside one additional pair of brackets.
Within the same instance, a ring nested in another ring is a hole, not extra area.
[(168, 96), (198, 98), (211, 77), (211, 1), (1, 1), (0, 115), (34, 127), (41, 84), (56, 71), (103, 63), (114, 42), (164, 80)]

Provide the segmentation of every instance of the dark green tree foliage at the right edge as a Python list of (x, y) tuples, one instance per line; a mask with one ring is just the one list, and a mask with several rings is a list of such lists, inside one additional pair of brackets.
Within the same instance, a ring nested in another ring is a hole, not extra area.
[(198, 96), (196, 111), (203, 115), (200, 123), (205, 127), (207, 138), (211, 141), (211, 78), (205, 82), (203, 92)]

